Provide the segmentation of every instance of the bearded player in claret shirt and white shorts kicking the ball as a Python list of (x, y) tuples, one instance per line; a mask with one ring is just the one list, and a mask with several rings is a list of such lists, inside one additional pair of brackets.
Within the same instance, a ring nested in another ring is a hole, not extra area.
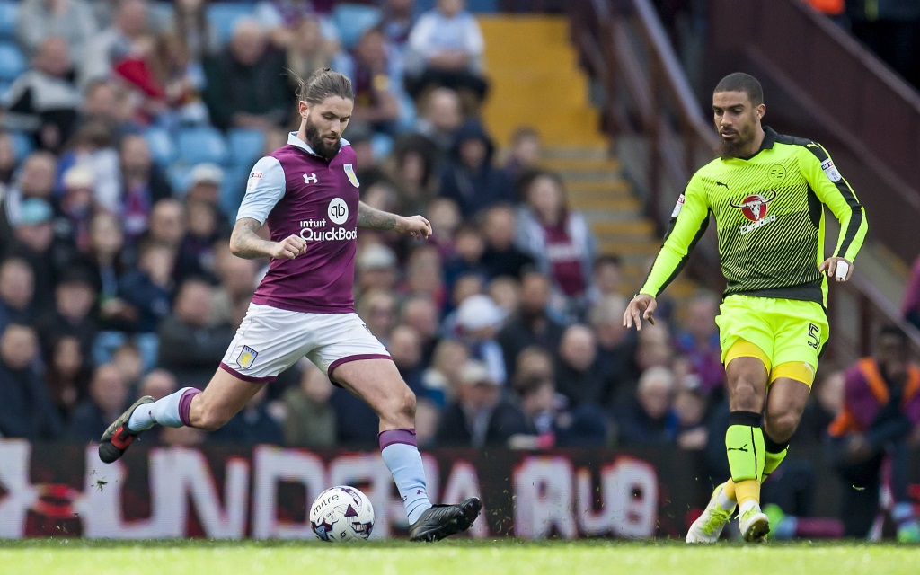
[[(415, 439), (415, 396), (384, 346), (354, 313), (358, 229), (431, 236), (420, 215), (385, 213), (359, 199), (355, 153), (341, 137), (351, 118), (351, 81), (328, 69), (302, 81), (300, 130), (256, 163), (230, 238), (240, 258), (270, 258), (211, 382), (154, 401), (142, 397), (109, 426), (99, 458), (110, 463), (155, 424), (215, 430), (302, 357), (366, 401), (380, 417), (380, 448), (406, 505), (409, 536), (436, 541), (469, 528), (477, 498), (431, 505)], [(257, 232), (268, 224), (270, 240)]]

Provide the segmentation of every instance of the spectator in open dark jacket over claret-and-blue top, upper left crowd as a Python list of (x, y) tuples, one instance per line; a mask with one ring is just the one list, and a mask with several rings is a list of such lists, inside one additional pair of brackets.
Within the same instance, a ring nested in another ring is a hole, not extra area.
[(150, 147), (140, 134), (129, 134), (119, 146), (121, 166), (121, 221), (128, 236), (140, 236), (151, 207), (172, 196), (167, 178), (156, 167)]

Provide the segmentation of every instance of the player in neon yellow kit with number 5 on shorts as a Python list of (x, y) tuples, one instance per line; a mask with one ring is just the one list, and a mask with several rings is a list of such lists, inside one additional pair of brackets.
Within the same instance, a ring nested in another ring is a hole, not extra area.
[[(760, 509), (760, 485), (786, 456), (811, 392), (828, 338), (827, 278), (849, 280), (868, 225), (821, 144), (761, 125), (766, 107), (755, 78), (722, 78), (712, 111), (720, 157), (696, 171), (674, 206), (623, 325), (654, 325), (655, 297), (681, 270), (712, 214), (727, 282), (716, 323), (728, 379), (731, 477), (713, 491), (686, 540), (717, 541), (737, 504), (744, 540), (762, 541), (770, 523)], [(824, 205), (841, 226), (827, 259)]]

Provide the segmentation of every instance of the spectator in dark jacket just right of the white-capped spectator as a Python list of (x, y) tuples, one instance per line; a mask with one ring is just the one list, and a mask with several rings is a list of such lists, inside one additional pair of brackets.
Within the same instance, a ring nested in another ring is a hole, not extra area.
[(565, 327), (549, 315), (549, 280), (538, 271), (524, 274), (521, 282), (521, 304), (496, 338), (509, 366), (510, 377), (518, 355), (524, 349), (537, 346), (556, 350)]

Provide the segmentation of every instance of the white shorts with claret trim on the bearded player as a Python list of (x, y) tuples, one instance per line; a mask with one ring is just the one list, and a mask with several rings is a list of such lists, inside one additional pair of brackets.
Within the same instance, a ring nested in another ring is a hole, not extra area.
[(330, 379), (342, 363), (391, 359), (357, 314), (306, 314), (250, 304), (221, 367), (244, 381), (268, 383), (302, 357)]

